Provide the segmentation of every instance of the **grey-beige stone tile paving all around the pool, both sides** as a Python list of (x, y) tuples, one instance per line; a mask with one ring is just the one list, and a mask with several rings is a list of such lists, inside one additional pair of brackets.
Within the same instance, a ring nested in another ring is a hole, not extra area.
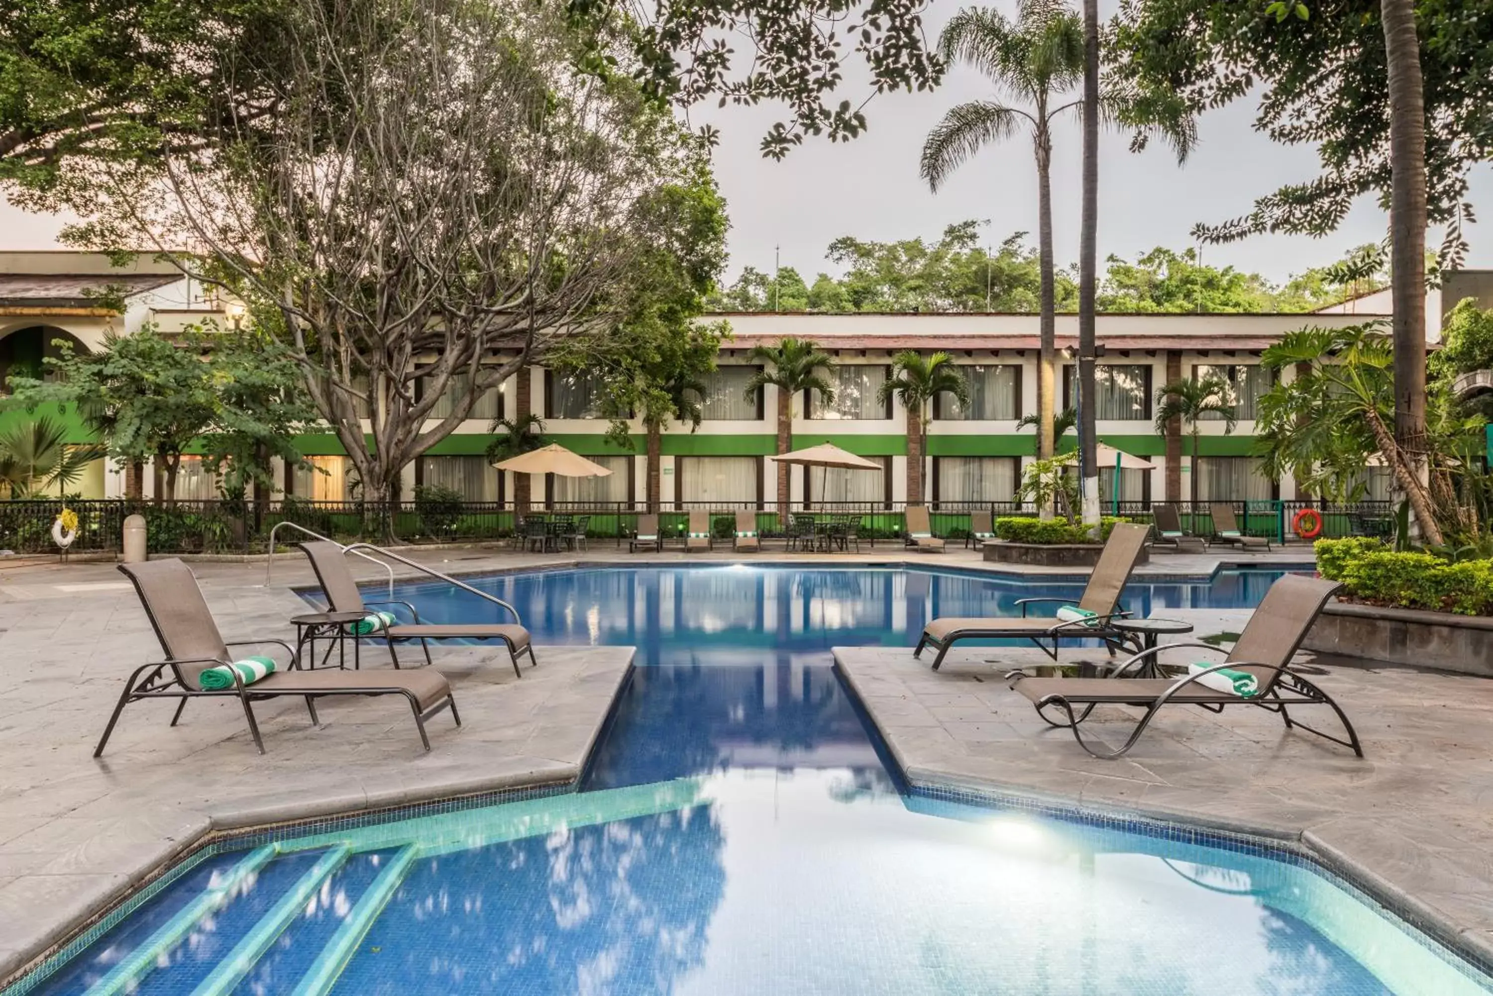
[[(1306, 555), (1305, 548), (1242, 557), (1230, 551), (1162, 554), (1139, 573), (1208, 573), (1220, 560), (1300, 563)], [(449, 572), (735, 558), (724, 547), (711, 554), (629, 555), (611, 541), (569, 555), (470, 548), (428, 550), (417, 557)], [(742, 558), (984, 567), (969, 551), (908, 555), (893, 545), (866, 547), (860, 555), (767, 553)], [(270, 588), (264, 587), (263, 560), (196, 563), (194, 570), (230, 638), (288, 638), (285, 620), (305, 611), (290, 587), (312, 582), (299, 554), (276, 561)], [(370, 581), (385, 576), (372, 566), (360, 573)], [(130, 706), (109, 753), (94, 762), (90, 754), (119, 682), (158, 653), (127, 585), (107, 563), (4, 569), (0, 561), (0, 682), (9, 690), (0, 697), (6, 759), (0, 765), (0, 799), (6, 800), (0, 806), (0, 980), (213, 827), (572, 781), (632, 657), (627, 648), (539, 647), (542, 666), (533, 672), (526, 666), (520, 681), (506, 656), (493, 666), (484, 663), (485, 651), (434, 651), (437, 666), (452, 678), (466, 726), (455, 730), (449, 717), (436, 717), (430, 754), (420, 750), (408, 711), (393, 702), (328, 702), (321, 706), (321, 730), (311, 729), (299, 703), (258, 705), (269, 748), (263, 759), (254, 753), (234, 703), (193, 702), (176, 730), (166, 726), (170, 705)], [(1208, 615), (1217, 618), (1200, 623), (1199, 632), (1209, 626), (1236, 630), (1247, 614)], [(1433, 675), (1433, 684), (1409, 687), (1388, 670), (1350, 675), (1333, 667), (1324, 678), (1333, 691), (1344, 676), (1354, 682), (1342, 699), (1360, 723), (1369, 760), (1285, 744), (1293, 738), (1282, 739), (1269, 723), (1251, 726), (1245, 720), (1232, 735), (1242, 738), (1241, 756), (1266, 756), (1263, 781), (1269, 782), (1245, 799), (1217, 788), (1230, 784), (1227, 779), (1209, 781), (1217, 778), (1220, 762), (1236, 756), (1230, 747), (1241, 747), (1233, 739), (1215, 742), (1211, 730), (1197, 726), (1215, 723), (1211, 717), (1176, 729), (1171, 726), (1175, 721), (1163, 724), (1154, 730), (1162, 736), (1148, 736), (1133, 760), (1117, 766), (1087, 759), (1066, 733), (1038, 733), (1030, 708), (1020, 711), (1024, 699), (1014, 700), (999, 682), (973, 681), (970, 669), (957, 664), (957, 654), (950, 656), (947, 673), (932, 676), (926, 664), (909, 664), (906, 650), (866, 650), (851, 657), (860, 663), (847, 670), (860, 681), (887, 682), (881, 685), (882, 702), (872, 702), (876, 694), (867, 702), (899, 756), (912, 759), (917, 779), (924, 779), (926, 768), (941, 772), (927, 781), (961, 779), (1120, 806), (1136, 806), (1144, 794), (1144, 806), (1159, 811), (1238, 820), (1281, 833), (1311, 827), (1309, 841), (1341, 848), (1348, 857), (1365, 851), (1360, 839), (1368, 835), (1380, 848), (1365, 859), (1377, 874), (1390, 884), (1403, 883), (1442, 918), (1465, 924), (1471, 942), (1493, 950), (1493, 830), (1477, 811), (1478, 802), (1487, 809), (1493, 800), (1493, 747), (1486, 736), (1493, 730), (1493, 685), (1484, 679)], [(970, 651), (969, 659), (982, 656)], [(990, 670), (985, 666), (982, 676)], [(893, 699), (903, 705), (893, 705)], [(1417, 709), (1423, 702), (1432, 706), (1429, 712)], [(888, 721), (897, 709), (906, 711), (906, 723)], [(979, 739), (991, 735), (993, 715), (999, 717), (994, 733), (1009, 739)], [(1224, 721), (1230, 727), (1238, 723), (1233, 715)], [(985, 729), (975, 729), (981, 724)], [(933, 733), (935, 726), (948, 729)], [(1466, 730), (1465, 741), (1448, 739), (1448, 730)], [(951, 748), (950, 742), (959, 745)], [(917, 744), (924, 747), (914, 756)], [(950, 772), (936, 768), (939, 759), (953, 766)], [(1012, 763), (1017, 759), (1020, 763)], [(1212, 768), (1199, 768), (1197, 759)], [(1024, 774), (1015, 778), (1014, 772)], [(1281, 788), (1275, 784), (1281, 778), (1296, 787)], [(1232, 808), (1224, 797), (1233, 800)], [(1365, 812), (1386, 815), (1366, 821)], [(1384, 841), (1396, 844), (1384, 847)]]

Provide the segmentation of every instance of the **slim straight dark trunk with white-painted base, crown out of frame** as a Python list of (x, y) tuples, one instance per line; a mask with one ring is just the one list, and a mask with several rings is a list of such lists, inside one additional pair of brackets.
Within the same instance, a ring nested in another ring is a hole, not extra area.
[(1099, 233), (1099, 0), (1084, 0), (1084, 178), (1078, 231), (1078, 482), (1084, 524), (1099, 526), (1099, 467), (1094, 445), (1094, 282)]

